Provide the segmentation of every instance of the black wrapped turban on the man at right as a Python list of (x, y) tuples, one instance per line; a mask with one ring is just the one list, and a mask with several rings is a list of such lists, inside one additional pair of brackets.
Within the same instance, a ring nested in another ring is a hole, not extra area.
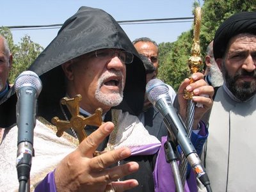
[(223, 57), (230, 38), (240, 33), (256, 35), (256, 12), (236, 13), (220, 25), (220, 28), (215, 33), (213, 42), (215, 60)]

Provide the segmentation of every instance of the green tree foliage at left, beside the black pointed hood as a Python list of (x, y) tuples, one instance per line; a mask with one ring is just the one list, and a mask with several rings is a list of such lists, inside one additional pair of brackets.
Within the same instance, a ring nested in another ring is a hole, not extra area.
[(0, 34), (8, 40), (10, 51), (13, 55), (9, 81), (10, 83), (14, 83), (15, 78), (19, 76), (21, 72), (28, 69), (29, 65), (31, 65), (44, 48), (33, 42), (28, 35), (22, 37), (18, 44), (14, 44), (12, 32), (8, 28), (1, 28)]

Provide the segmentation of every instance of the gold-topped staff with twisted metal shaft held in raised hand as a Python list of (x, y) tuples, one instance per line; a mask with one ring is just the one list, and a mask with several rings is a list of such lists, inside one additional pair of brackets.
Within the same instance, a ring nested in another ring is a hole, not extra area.
[[(200, 27), (201, 27), (201, 19), (202, 13), (201, 8), (195, 8), (195, 16), (194, 16), (194, 37), (193, 37), (193, 45), (191, 49), (191, 57), (188, 60), (189, 68), (191, 69), (192, 74), (198, 72), (200, 66), (202, 65), (202, 58), (200, 58)], [(190, 83), (193, 83), (193, 79), (190, 78)], [(195, 103), (192, 100), (193, 93), (184, 90), (184, 99), (188, 99), (188, 108), (186, 111), (186, 128), (189, 138), (191, 137), (191, 132), (193, 129), (194, 123), (194, 115), (195, 115)], [(186, 181), (186, 172), (188, 167), (188, 161), (184, 154), (181, 154), (181, 163), (180, 163), (180, 175), (182, 177), (182, 184), (185, 184)]]

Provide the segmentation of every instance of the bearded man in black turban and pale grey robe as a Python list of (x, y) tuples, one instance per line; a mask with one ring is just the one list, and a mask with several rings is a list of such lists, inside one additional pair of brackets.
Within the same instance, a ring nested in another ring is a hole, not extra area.
[(202, 156), (205, 170), (212, 191), (255, 191), (256, 12), (225, 20), (213, 52), (224, 83), (215, 89)]

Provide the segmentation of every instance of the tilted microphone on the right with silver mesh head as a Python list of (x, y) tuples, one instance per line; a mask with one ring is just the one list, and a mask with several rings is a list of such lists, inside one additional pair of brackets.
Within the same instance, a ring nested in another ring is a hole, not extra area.
[(204, 186), (208, 186), (210, 184), (208, 175), (205, 172), (204, 166), (202, 166), (198, 154), (196, 154), (195, 147), (188, 137), (186, 125), (184, 125), (182, 118), (177, 113), (177, 109), (172, 106), (172, 100), (168, 90), (168, 86), (157, 78), (148, 81), (146, 86), (148, 100), (163, 116), (164, 124), (166, 125), (168, 132), (170, 132), (173, 138), (177, 140), (188, 163), (195, 171), (196, 177), (200, 179)]

